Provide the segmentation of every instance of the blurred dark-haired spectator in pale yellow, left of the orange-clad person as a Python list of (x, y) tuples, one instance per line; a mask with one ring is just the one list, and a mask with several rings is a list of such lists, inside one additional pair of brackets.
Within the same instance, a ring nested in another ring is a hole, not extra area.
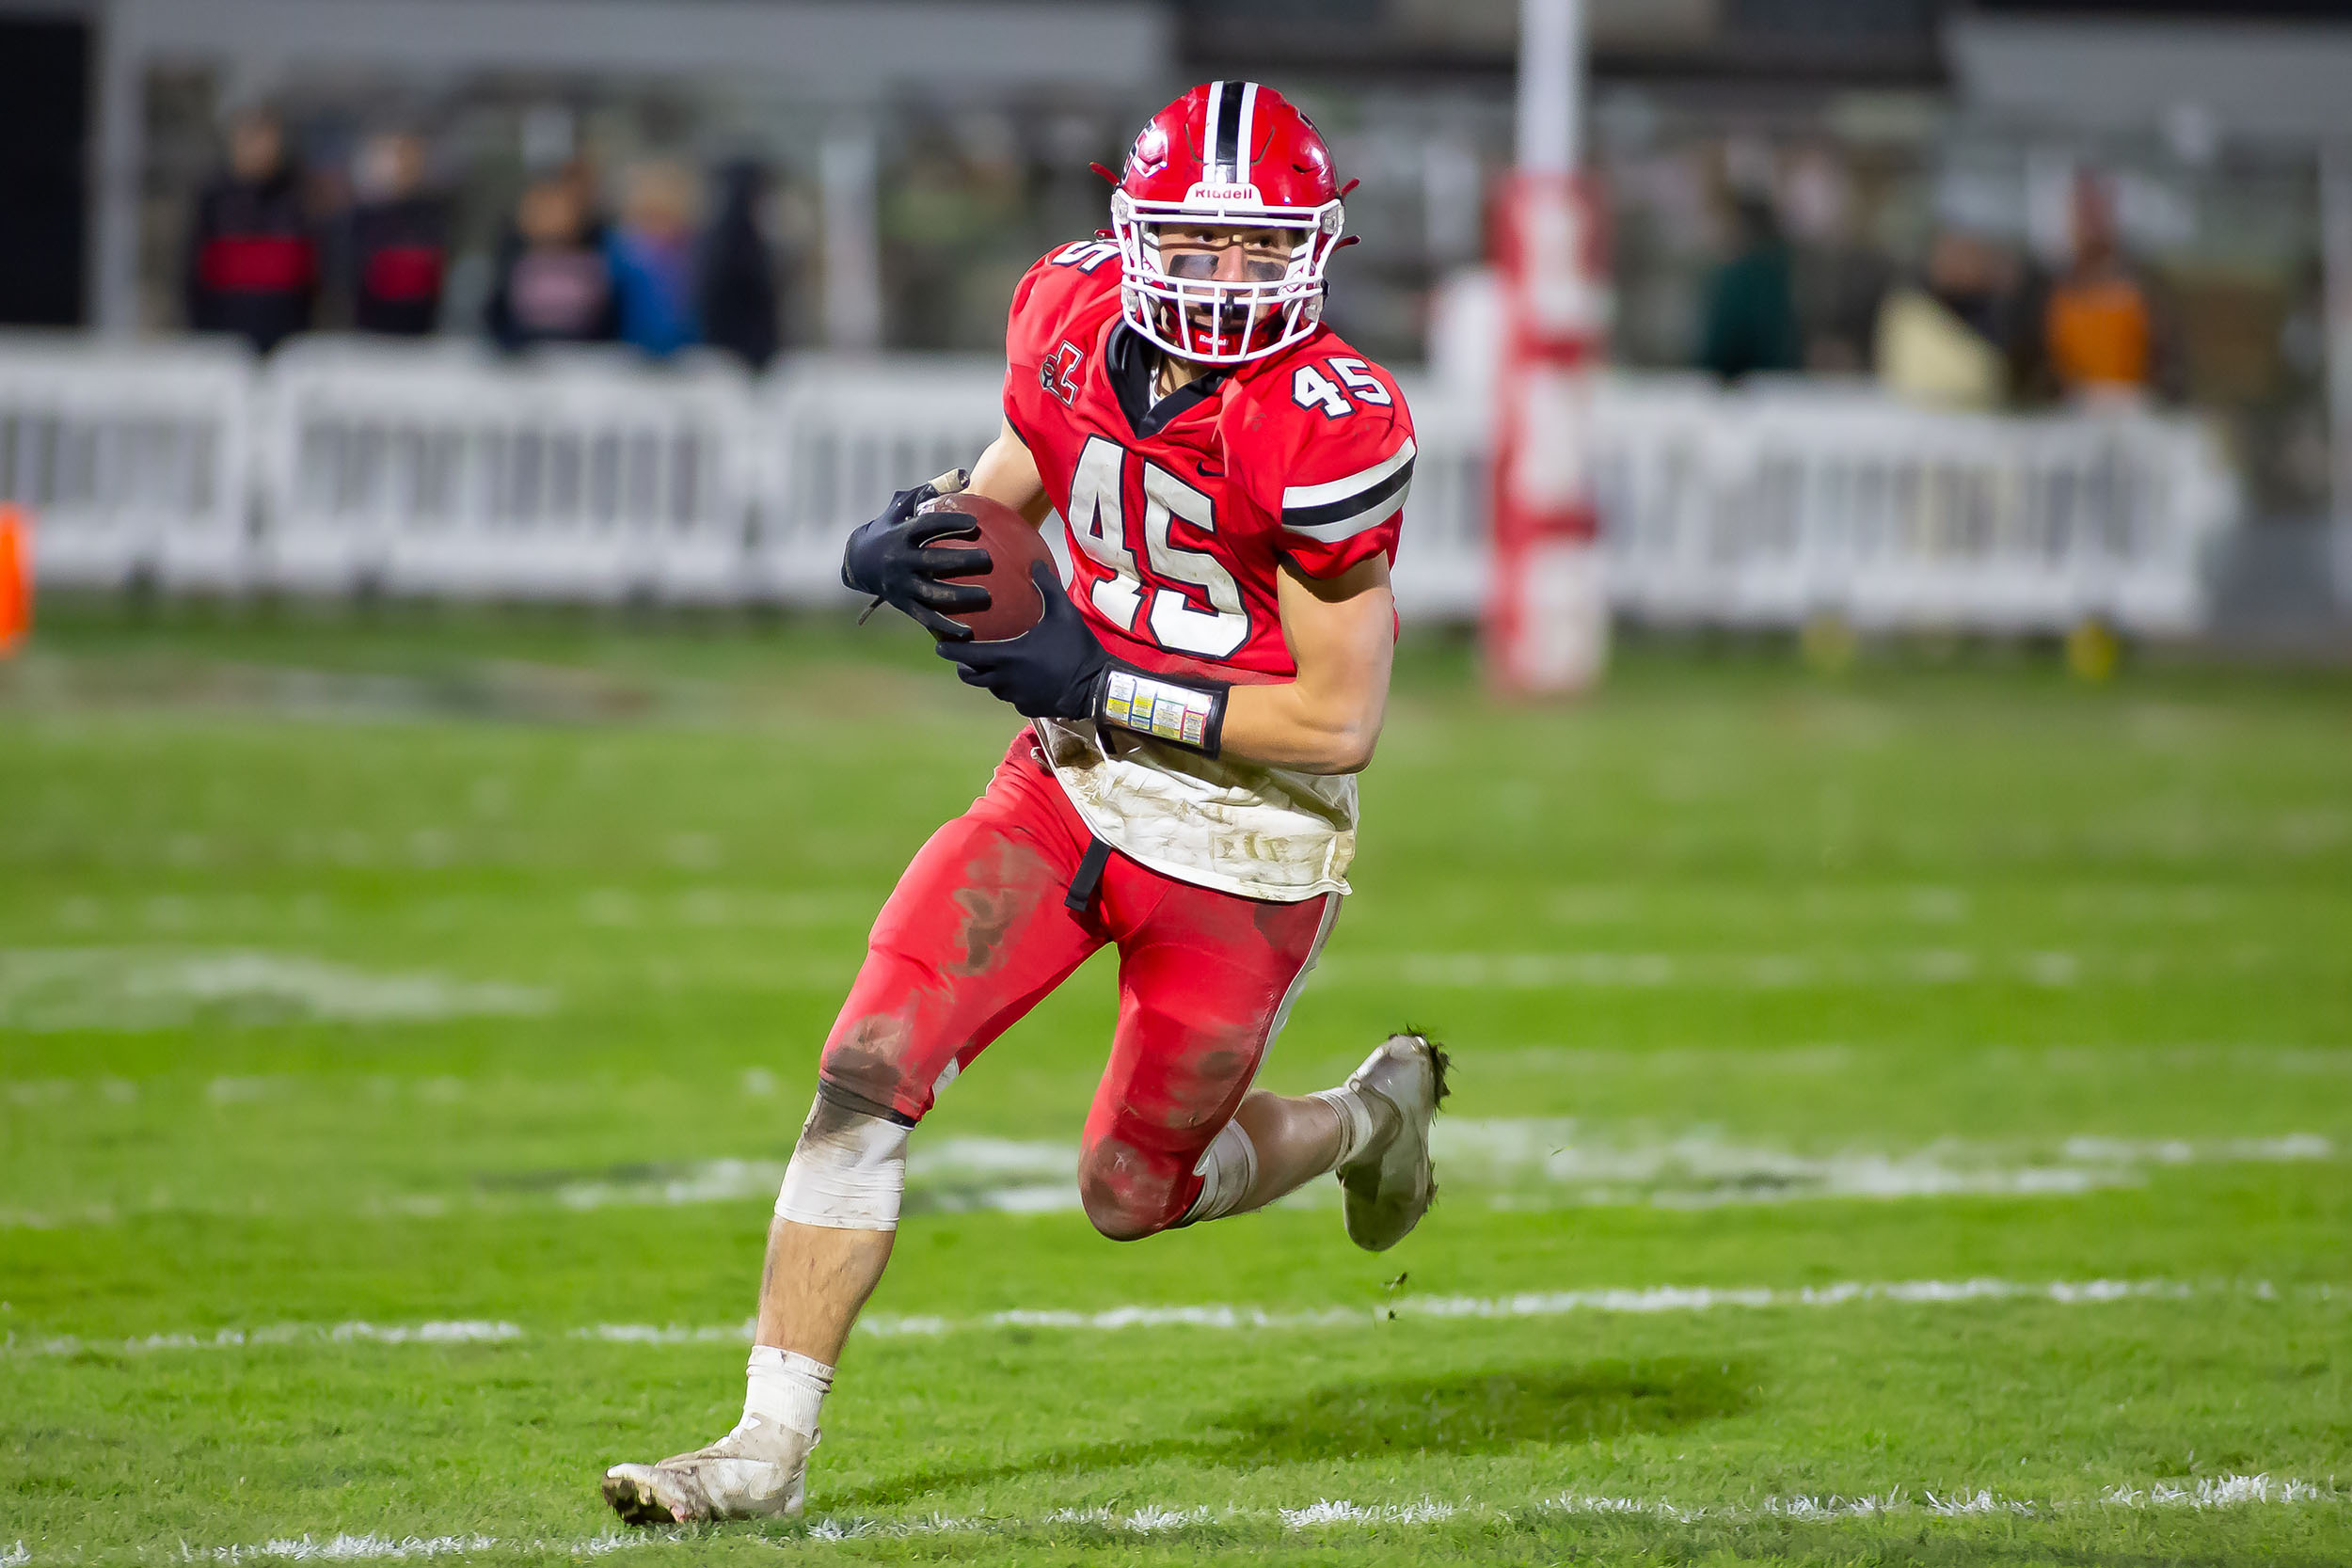
[(1919, 402), (1997, 409), (2011, 395), (2023, 317), (2018, 259), (1978, 235), (1945, 230), (1924, 277), (1889, 294), (1879, 310), (1879, 378)]

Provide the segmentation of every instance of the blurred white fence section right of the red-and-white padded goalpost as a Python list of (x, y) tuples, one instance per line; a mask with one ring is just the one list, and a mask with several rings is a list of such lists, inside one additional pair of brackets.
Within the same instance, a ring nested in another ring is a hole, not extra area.
[(1656, 621), (2187, 632), (2239, 515), (2209, 433), (2145, 411), (1618, 381), (1597, 425), (1611, 597)]

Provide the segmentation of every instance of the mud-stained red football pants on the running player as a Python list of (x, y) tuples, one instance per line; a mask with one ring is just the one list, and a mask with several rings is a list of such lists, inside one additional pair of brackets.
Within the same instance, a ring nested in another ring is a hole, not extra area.
[(1176, 1225), (1315, 966), (1338, 896), (1268, 903), (1110, 853), (1068, 905), (1094, 835), (1023, 729), (971, 811), (931, 835), (868, 938), (826, 1039), (828, 1100), (913, 1126), (988, 1044), (1103, 943), (1120, 1025), (1094, 1091), (1077, 1192), (1115, 1239)]

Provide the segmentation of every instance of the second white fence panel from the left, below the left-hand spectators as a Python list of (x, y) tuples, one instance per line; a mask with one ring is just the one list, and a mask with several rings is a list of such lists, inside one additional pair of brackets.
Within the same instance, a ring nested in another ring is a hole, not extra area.
[(586, 353), (299, 343), (254, 393), (254, 581), (449, 597), (731, 599), (750, 386)]

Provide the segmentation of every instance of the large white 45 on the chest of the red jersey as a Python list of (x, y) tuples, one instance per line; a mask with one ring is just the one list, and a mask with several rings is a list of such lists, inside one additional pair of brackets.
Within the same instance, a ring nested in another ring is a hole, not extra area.
[(1185, 550), (1169, 538), (1169, 520), (1183, 517), (1202, 534), (1216, 534), (1216, 503), (1167, 468), (1143, 463), (1143, 557), (1155, 578), (1197, 588), (1209, 609), (1195, 609), (1176, 588), (1150, 590), (1150, 616), (1136, 628), (1143, 578), (1127, 545), (1127, 449), (1089, 435), (1070, 475), (1070, 538), (1110, 576), (1094, 585), (1094, 607), (1131, 637), (1145, 630), (1174, 654), (1223, 658), (1249, 642), (1249, 609), (1242, 585), (1207, 550)]

